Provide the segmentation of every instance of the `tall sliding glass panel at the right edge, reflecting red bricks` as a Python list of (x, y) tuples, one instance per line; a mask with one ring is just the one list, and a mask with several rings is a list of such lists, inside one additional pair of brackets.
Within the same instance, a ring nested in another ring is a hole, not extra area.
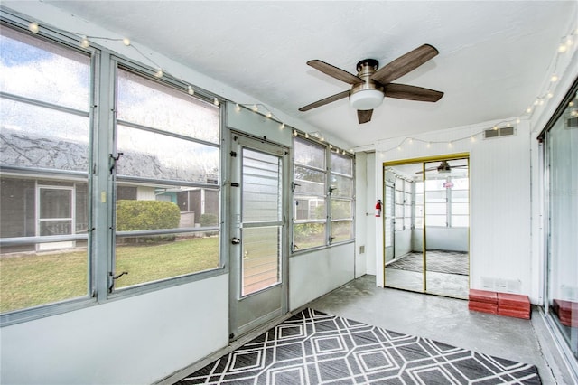
[(546, 312), (578, 375), (578, 80), (542, 134)]

